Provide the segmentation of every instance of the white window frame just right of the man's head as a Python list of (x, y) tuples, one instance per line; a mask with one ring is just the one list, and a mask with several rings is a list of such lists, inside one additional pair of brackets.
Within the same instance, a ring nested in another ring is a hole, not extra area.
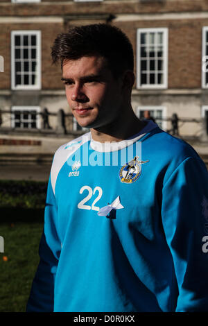
[[(164, 66), (164, 83), (162, 84), (145, 84), (141, 85), (141, 62), (140, 51), (141, 33), (163, 33), (163, 66)], [(138, 28), (137, 29), (137, 88), (138, 89), (166, 89), (168, 88), (168, 28)]]

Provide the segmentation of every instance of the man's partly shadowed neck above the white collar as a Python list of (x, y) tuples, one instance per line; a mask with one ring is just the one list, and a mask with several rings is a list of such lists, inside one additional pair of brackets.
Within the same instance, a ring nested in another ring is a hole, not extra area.
[(104, 143), (105, 141), (122, 141), (139, 133), (146, 126), (146, 122), (139, 120), (132, 112), (127, 116), (121, 114), (121, 119), (117, 119), (109, 126), (90, 129), (92, 139)]

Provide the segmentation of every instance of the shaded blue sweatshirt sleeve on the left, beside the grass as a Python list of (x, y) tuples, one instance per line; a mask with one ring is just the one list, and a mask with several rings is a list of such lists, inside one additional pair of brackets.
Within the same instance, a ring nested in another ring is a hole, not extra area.
[(53, 311), (54, 284), (61, 250), (57, 233), (57, 207), (51, 178), (44, 211), (44, 231), (40, 241), (40, 263), (33, 280), (26, 311)]

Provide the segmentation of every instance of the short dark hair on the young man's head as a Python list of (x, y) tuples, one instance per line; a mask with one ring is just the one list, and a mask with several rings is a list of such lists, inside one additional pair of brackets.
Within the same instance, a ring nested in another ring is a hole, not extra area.
[(125, 70), (134, 70), (134, 53), (128, 37), (116, 26), (90, 24), (69, 28), (55, 39), (51, 57), (60, 60), (78, 60), (83, 56), (100, 55), (107, 60), (115, 78)]

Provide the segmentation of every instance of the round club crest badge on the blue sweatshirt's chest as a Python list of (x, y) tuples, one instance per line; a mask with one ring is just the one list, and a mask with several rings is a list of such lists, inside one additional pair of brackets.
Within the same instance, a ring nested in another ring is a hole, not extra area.
[(121, 182), (131, 184), (138, 180), (141, 175), (141, 164), (147, 163), (147, 161), (139, 161), (139, 157), (135, 156), (133, 160), (121, 166), (119, 171), (119, 178)]

